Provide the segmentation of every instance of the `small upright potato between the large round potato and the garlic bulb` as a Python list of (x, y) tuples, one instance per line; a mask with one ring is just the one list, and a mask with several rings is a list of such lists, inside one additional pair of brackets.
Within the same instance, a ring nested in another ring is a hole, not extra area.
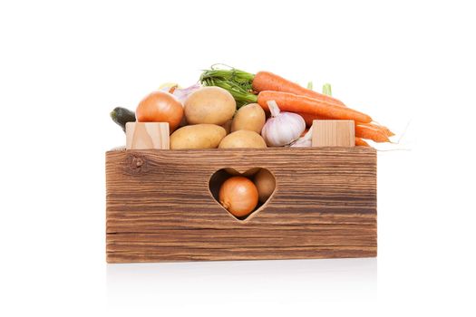
[(231, 131), (250, 130), (261, 133), (265, 122), (265, 110), (257, 103), (250, 103), (237, 111), (231, 123)]

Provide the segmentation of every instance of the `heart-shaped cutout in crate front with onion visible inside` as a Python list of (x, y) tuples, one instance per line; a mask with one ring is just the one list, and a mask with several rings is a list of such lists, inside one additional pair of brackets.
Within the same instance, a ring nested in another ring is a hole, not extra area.
[(243, 173), (221, 168), (209, 179), (211, 196), (230, 216), (249, 220), (262, 211), (276, 189), (276, 178), (267, 168), (250, 168)]

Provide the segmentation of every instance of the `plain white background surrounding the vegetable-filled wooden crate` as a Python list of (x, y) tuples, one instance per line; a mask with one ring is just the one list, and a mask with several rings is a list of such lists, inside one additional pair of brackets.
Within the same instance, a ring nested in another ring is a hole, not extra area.
[[(2, 1), (0, 315), (474, 315), (471, 1)], [(397, 131), (374, 259), (105, 263), (109, 119), (224, 62)], [(395, 146), (396, 147), (396, 146)]]

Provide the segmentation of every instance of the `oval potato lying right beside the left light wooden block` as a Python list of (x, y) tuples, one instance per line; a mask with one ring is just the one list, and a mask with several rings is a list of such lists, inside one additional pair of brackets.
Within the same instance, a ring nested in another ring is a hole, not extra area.
[(226, 135), (215, 124), (185, 126), (170, 135), (170, 149), (215, 149)]

